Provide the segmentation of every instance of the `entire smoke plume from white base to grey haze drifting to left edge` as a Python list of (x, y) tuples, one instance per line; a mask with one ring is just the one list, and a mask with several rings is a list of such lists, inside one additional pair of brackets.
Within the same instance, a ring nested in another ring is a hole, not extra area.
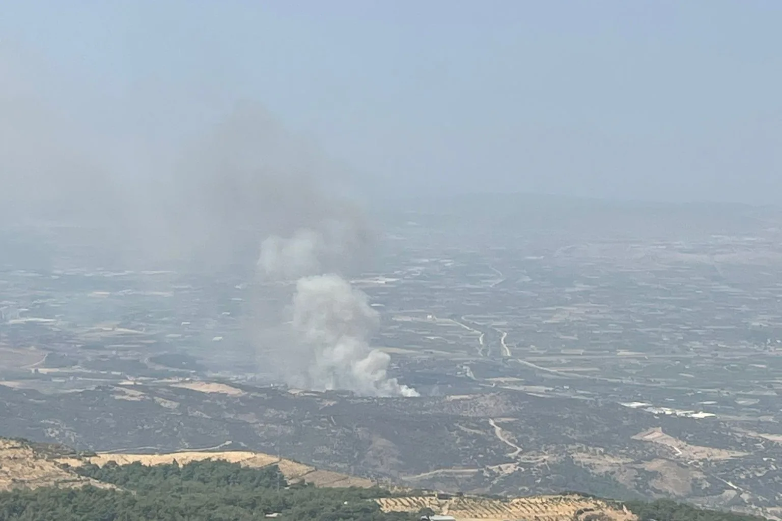
[[(369, 348), (377, 315), (342, 278), (371, 233), (343, 197), (341, 166), (256, 103), (179, 112), (180, 93), (149, 91), (76, 101), (16, 55), (0, 48), (0, 225), (66, 223), (89, 243), (76, 263), (243, 279), (254, 290), (245, 332), (265, 368), (316, 389), (414, 394)], [(297, 279), (295, 295), (277, 284)]]

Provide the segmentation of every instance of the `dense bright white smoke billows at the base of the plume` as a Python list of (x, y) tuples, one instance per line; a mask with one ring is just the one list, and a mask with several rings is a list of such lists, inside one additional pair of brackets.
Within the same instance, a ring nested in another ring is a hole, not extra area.
[[(390, 357), (371, 349), (369, 338), (378, 327), (378, 312), (363, 291), (334, 273), (321, 271), (322, 256), (343, 250), (328, 245), (313, 230), (299, 230), (285, 239), (261, 244), (259, 269), (265, 277), (295, 278), (292, 302), (293, 352), (308, 363), (304, 384), (320, 390), (343, 389), (369, 396), (418, 396), (411, 387), (388, 376)], [(292, 381), (300, 375), (286, 375)]]

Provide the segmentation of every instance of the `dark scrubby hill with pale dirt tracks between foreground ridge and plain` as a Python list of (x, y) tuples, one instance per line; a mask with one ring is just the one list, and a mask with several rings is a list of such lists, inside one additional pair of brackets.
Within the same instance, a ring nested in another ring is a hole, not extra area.
[(655, 415), (529, 389), (411, 401), (176, 379), (56, 394), (0, 385), (0, 416), (6, 435), (104, 459), (231, 451), (265, 464), (280, 455), (302, 462), (306, 469), (289, 465), (310, 480), (500, 496), (572, 490), (782, 516), (782, 444), (761, 437), (770, 423)]

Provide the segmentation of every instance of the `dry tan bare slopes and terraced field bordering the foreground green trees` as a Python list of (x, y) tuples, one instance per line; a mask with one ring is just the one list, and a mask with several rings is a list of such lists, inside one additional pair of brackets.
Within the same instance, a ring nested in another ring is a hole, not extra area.
[[(371, 480), (315, 469), (287, 459), (251, 451), (181, 451), (168, 454), (95, 454), (79, 452), (57, 444), (34, 444), (24, 440), (0, 439), (0, 491), (27, 493), (45, 489), (81, 489), (95, 487), (121, 492), (130, 481), (112, 480), (110, 476), (122, 472), (138, 473), (139, 466), (185, 469), (195, 464), (211, 465), (225, 462), (240, 469), (257, 471), (278, 469), (285, 486), (304, 485), (325, 488), (364, 489), (373, 498), (380, 512), (415, 515), (431, 511), (454, 516), (457, 519), (528, 519), (540, 521), (573, 521), (600, 514), (606, 521), (637, 521), (637, 516), (626, 508), (597, 498), (579, 494), (535, 496), (530, 498), (497, 499), (458, 494), (421, 494), (421, 491), (397, 489), (393, 495), (379, 489)], [(208, 467), (206, 467), (208, 468)], [(148, 472), (151, 472), (148, 471)], [(93, 476), (90, 476), (92, 474)], [(99, 479), (99, 478), (103, 478)], [(122, 487), (119, 487), (119, 484)], [(132, 487), (131, 487), (132, 488)], [(372, 492), (374, 491), (374, 492)], [(47, 496), (48, 497), (48, 496)], [(2, 496), (0, 496), (2, 499)], [(414, 519), (411, 516), (410, 519)], [(590, 518), (591, 519), (591, 518)]]

